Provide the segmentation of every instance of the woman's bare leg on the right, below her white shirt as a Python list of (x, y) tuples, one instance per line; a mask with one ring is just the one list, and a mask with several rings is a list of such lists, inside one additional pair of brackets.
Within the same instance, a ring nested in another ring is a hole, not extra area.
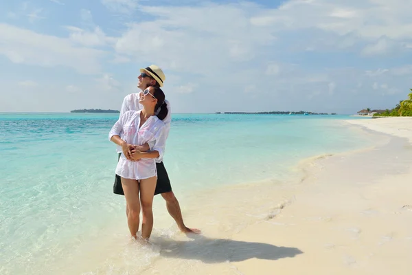
[(141, 222), (141, 237), (144, 240), (150, 238), (153, 228), (153, 197), (155, 196), (157, 177), (140, 180), (140, 201), (143, 215)]

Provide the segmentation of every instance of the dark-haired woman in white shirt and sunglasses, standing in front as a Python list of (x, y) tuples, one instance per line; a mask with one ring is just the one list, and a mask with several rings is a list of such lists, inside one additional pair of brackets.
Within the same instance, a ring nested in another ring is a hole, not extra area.
[[(143, 145), (146, 142), (150, 145), (148, 152), (135, 151), (133, 160), (128, 160), (122, 153), (115, 171), (122, 177), (130, 234), (137, 239), (141, 210), (141, 237), (147, 241), (153, 228), (152, 202), (157, 181), (155, 159), (164, 153), (166, 136), (162, 120), (168, 114), (168, 109), (165, 94), (159, 87), (148, 87), (144, 90), (139, 96), (139, 103), (143, 109), (126, 111), (113, 125), (108, 138), (122, 148), (127, 148), (130, 144)], [(123, 140), (119, 136), (121, 132)]]

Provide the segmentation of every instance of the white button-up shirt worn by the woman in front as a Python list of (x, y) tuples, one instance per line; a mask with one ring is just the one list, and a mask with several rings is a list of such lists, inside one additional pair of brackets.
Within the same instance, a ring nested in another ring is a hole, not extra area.
[[(163, 157), (165, 151), (165, 124), (156, 115), (150, 116), (140, 125), (140, 111), (126, 111), (113, 125), (108, 133), (108, 140), (113, 135), (122, 133), (122, 140), (128, 144), (143, 145), (146, 142), (152, 144), (152, 151), (158, 151), (159, 157)], [(119, 158), (116, 166), (116, 174), (126, 179), (147, 179), (157, 175), (155, 159), (142, 158), (134, 162), (126, 159), (124, 154)]]

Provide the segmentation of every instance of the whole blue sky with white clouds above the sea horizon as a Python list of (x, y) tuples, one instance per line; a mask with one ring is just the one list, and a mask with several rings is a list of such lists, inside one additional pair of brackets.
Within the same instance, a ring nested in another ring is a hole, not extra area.
[(158, 65), (172, 113), (391, 109), (408, 0), (0, 0), (0, 112), (117, 109)]

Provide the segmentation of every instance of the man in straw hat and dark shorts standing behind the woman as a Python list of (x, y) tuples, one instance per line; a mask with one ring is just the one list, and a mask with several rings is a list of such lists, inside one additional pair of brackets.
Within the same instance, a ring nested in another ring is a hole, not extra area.
[[(165, 81), (165, 75), (163, 71), (157, 67), (156, 65), (150, 65), (145, 69), (140, 69), (141, 74), (139, 75), (139, 83), (137, 87), (142, 91), (147, 87), (154, 85), (157, 87), (163, 87), (163, 83)], [(141, 104), (139, 104), (139, 93), (128, 94), (122, 104), (122, 109), (120, 109), (120, 115), (122, 116), (123, 113), (129, 110), (139, 110), (141, 109)], [(168, 104), (168, 115), (163, 120), (166, 125), (166, 137), (170, 131), (170, 122), (172, 120), (171, 112), (170, 112), (170, 103), (168, 100), (165, 100)], [(152, 147), (150, 144), (144, 144), (142, 146), (128, 146), (127, 148), (122, 148), (121, 146), (117, 146), (117, 153), (119, 153), (119, 157), (124, 153), (127, 159), (131, 159), (133, 152), (135, 151), (142, 151), (146, 152), (150, 150)], [(155, 190), (155, 195), (161, 194), (163, 199), (166, 201), (166, 208), (168, 208), (168, 212), (170, 216), (176, 221), (177, 226), (184, 233), (200, 233), (201, 231), (196, 228), (187, 228), (185, 223), (183, 223), (182, 212), (179, 206), (179, 201), (177, 201), (174, 193), (172, 191), (172, 186), (170, 185), (170, 180), (168, 177), (168, 173), (163, 165), (163, 159), (159, 158), (156, 159), (156, 168), (157, 168), (157, 185)], [(121, 178), (116, 175), (115, 177), (115, 184), (113, 186), (113, 192), (117, 195), (124, 195), (123, 188), (122, 188), (122, 180)], [(128, 212), (128, 208), (126, 206), (126, 214)]]

